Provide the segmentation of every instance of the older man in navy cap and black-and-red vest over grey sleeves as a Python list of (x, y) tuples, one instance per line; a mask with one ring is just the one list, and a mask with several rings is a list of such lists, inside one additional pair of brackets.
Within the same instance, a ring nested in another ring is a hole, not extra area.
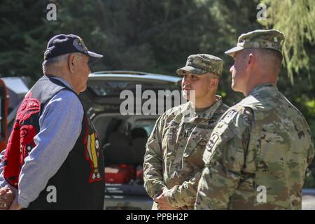
[[(103, 155), (78, 98), (91, 57), (102, 55), (88, 51), (79, 36), (59, 34), (48, 42), (44, 76), (25, 96), (1, 153), (1, 208), (103, 208)], [(8, 189), (15, 192), (12, 203)]]

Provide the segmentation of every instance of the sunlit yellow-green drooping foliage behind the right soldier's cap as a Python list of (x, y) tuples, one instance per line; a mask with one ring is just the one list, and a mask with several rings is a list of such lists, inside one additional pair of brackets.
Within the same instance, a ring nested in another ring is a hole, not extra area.
[(305, 45), (314, 47), (315, 41), (315, 3), (314, 0), (265, 0), (267, 3), (267, 20), (265, 27), (279, 29), (286, 34), (283, 55), (291, 83), (293, 73), (300, 69), (309, 70), (310, 60)]

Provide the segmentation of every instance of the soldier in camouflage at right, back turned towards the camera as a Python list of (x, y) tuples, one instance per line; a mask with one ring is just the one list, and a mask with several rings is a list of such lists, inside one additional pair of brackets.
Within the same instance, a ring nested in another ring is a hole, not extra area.
[(276, 87), (284, 35), (255, 30), (225, 52), (246, 98), (219, 120), (204, 151), (195, 209), (301, 209), (314, 156), (309, 125)]

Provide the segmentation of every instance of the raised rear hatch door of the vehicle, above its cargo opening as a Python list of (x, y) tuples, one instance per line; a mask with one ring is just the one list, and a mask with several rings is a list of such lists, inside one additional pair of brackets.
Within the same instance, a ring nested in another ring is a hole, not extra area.
[[(127, 99), (130, 102), (134, 102), (134, 113), (136, 113), (136, 109), (141, 108), (144, 102), (148, 101), (148, 98), (151, 99), (152, 96), (154, 97), (154, 94), (155, 100), (158, 103), (159, 90), (165, 91), (165, 98), (170, 97), (173, 90), (181, 90), (181, 78), (179, 77), (153, 74), (145, 75), (143, 73), (139, 73), (139, 75), (121, 73), (123, 71), (90, 74), (87, 81), (87, 90), (79, 95), (85, 109), (90, 114), (92, 112), (119, 113), (120, 105), (123, 102), (127, 103)], [(151, 91), (148, 92), (146, 90)], [(146, 95), (143, 95), (145, 91)], [(157, 112), (158, 106), (164, 107), (164, 105), (157, 105)]]

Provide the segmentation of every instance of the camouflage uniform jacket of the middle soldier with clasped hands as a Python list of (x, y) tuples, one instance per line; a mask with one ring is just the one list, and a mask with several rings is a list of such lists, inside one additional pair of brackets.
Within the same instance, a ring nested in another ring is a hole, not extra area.
[(221, 97), (207, 111), (188, 120), (190, 102), (166, 111), (158, 118), (146, 145), (144, 186), (155, 197), (167, 188), (172, 207), (193, 209), (202, 155), (218, 119), (228, 109)]

